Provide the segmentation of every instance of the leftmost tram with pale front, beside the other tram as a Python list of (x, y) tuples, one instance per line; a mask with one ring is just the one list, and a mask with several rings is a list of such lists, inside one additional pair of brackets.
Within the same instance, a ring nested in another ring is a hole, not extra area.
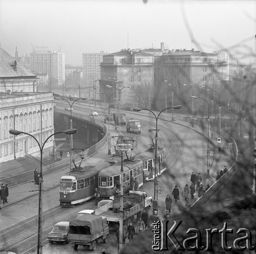
[(98, 162), (81, 170), (73, 170), (60, 177), (59, 201), (61, 206), (74, 206), (94, 197), (98, 188), (98, 174), (110, 167), (110, 162)]

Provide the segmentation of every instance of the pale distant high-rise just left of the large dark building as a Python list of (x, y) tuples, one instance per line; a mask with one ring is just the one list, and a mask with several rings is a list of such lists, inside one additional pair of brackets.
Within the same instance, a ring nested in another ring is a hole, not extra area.
[(89, 86), (92, 80), (100, 79), (100, 63), (106, 53), (83, 53), (82, 54), (82, 78), (85, 85)]

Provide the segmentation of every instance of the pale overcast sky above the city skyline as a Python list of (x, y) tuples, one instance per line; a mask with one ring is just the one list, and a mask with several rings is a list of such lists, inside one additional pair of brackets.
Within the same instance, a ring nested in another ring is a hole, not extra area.
[[(239, 60), (255, 61), (256, 1), (176, 0), (0, 0), (4, 50), (29, 55), (31, 44), (66, 53), (67, 64), (82, 53), (131, 48), (227, 48)], [(129, 34), (129, 36), (128, 36)], [(128, 39), (129, 38), (129, 39)], [(241, 55), (241, 52), (243, 55)]]

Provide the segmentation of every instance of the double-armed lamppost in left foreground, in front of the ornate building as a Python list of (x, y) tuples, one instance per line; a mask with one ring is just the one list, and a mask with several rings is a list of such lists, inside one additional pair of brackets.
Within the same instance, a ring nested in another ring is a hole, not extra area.
[(44, 144), (42, 144), (42, 146), (40, 146), (40, 143), (33, 135), (31, 135), (27, 132), (19, 131), (19, 130), (9, 130), (9, 133), (13, 134), (13, 135), (19, 135), (19, 134), (23, 133), (23, 134), (27, 134), (27, 135), (33, 137), (34, 140), (37, 142), (39, 149), (40, 149), (40, 174), (39, 174), (39, 189), (38, 189), (38, 191), (39, 191), (39, 195), (38, 195), (38, 233), (37, 233), (37, 251), (36, 251), (37, 254), (42, 254), (42, 223), (43, 223), (43, 220), (42, 220), (42, 191), (43, 191), (43, 189), (42, 189), (42, 183), (43, 183), (43, 180), (42, 180), (42, 150), (44, 149), (46, 142), (53, 135), (56, 135), (59, 133), (65, 133), (68, 135), (72, 135), (73, 133), (76, 133), (76, 131), (77, 131), (76, 129), (68, 129), (68, 130), (63, 130), (60, 132), (53, 133), (46, 139)]

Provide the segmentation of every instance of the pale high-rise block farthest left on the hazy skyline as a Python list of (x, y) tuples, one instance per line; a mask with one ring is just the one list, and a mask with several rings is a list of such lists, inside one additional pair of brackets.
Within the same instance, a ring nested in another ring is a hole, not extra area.
[[(61, 86), (65, 82), (65, 53), (35, 51), (30, 53), (30, 70), (33, 73), (48, 73), (51, 85)], [(48, 85), (48, 84), (47, 84)]]

